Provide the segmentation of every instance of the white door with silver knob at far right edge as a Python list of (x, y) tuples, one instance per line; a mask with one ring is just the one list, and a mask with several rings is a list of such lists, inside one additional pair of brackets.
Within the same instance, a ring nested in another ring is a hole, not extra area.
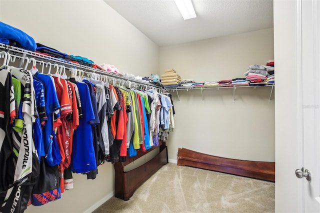
[(301, 107), (298, 108), (301, 109), (302, 117), (301, 167), (304, 169), (298, 168), (301, 171), (297, 170), (296, 173), (303, 175), (302, 209), (304, 212), (320, 212), (320, 1), (300, 2), (301, 46), (297, 48), (301, 49), (302, 98)]

